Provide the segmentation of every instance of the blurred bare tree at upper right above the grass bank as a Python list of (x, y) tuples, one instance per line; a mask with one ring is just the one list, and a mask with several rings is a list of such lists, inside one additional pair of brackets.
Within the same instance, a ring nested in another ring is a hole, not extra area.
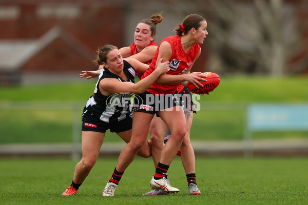
[(211, 0), (208, 68), (224, 73), (282, 76), (307, 69), (308, 21), (298, 19), (298, 5), (282, 0)]

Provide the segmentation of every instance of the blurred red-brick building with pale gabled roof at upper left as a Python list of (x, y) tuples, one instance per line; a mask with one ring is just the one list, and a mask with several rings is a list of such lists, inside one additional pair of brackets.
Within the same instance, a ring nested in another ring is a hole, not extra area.
[[(95, 51), (123, 46), (123, 8), (111, 1), (7, 1), (0, 4), (0, 85), (26, 76), (94, 70)], [(106, 29), (107, 28), (107, 29)], [(27, 77), (26, 77), (27, 78)], [(32, 78), (34, 79), (34, 78)]]

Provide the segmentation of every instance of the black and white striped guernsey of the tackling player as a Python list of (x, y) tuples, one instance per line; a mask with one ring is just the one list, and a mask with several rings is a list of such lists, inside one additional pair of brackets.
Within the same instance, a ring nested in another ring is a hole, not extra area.
[[(128, 78), (127, 81), (134, 83), (136, 70), (125, 60), (123, 71)], [(125, 81), (120, 76), (103, 68), (100, 72), (99, 80), (95, 85), (94, 94), (89, 98), (84, 108), (82, 118), (85, 121), (104, 121), (113, 123), (123, 120), (131, 114), (131, 105), (129, 101), (131, 94), (115, 93), (108, 96), (102, 95), (99, 84), (104, 78), (116, 78), (121, 82)]]

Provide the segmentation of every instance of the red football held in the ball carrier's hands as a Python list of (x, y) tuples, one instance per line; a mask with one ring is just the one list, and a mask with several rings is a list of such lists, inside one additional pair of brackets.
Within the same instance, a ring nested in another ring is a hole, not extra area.
[(213, 91), (219, 85), (220, 77), (216, 73), (206, 72), (206, 73), (202, 73), (202, 74), (204, 76), (207, 76), (207, 77), (204, 77), (205, 79), (207, 79), (207, 81), (200, 81), (200, 83), (203, 85), (203, 87), (199, 87), (199, 88), (194, 86), (194, 84), (191, 84), (191, 83), (188, 82), (187, 88), (190, 92), (197, 93), (197, 94), (203, 94), (203, 93)]

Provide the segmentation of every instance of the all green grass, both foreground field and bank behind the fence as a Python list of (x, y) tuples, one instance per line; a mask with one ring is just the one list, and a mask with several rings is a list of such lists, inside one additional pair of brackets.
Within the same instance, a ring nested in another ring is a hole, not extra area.
[[(80, 120), (94, 85), (95, 80), (76, 77), (74, 84), (0, 88), (0, 144), (71, 142), (72, 121)], [(307, 88), (305, 77), (222, 77), (215, 92), (201, 96), (201, 111), (194, 115), (191, 140), (242, 139), (246, 105), (308, 103)], [(78, 104), (75, 109), (80, 114), (76, 117), (71, 108), (53, 109), (59, 104)], [(27, 108), (23, 108), (25, 105)], [(254, 134), (254, 138), (307, 136), (304, 131)], [(121, 139), (108, 133), (108, 141)], [(117, 158), (99, 158), (78, 194), (64, 197), (61, 194), (72, 180), (76, 161), (0, 158), (0, 204), (308, 204), (306, 158), (197, 157), (202, 194), (190, 196), (181, 160), (176, 157), (168, 178), (180, 192), (142, 196), (149, 191), (155, 169), (150, 158), (137, 157), (125, 171), (115, 196), (102, 197), (116, 162)]]

